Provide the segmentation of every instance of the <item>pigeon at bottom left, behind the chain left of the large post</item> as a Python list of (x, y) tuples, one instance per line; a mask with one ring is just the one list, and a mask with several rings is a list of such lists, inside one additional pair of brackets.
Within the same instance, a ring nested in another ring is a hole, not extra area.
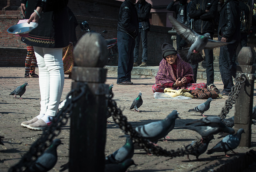
[(50, 147), (24, 172), (46, 172), (52, 169), (58, 159), (57, 147), (62, 144), (60, 139), (53, 140)]

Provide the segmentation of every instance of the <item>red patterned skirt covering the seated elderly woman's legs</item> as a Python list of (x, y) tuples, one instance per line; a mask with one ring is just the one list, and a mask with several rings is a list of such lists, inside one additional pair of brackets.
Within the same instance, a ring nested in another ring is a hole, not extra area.
[[(153, 92), (160, 92), (164, 93), (164, 88), (168, 88), (167, 86), (164, 85), (153, 85), (152, 90)], [(189, 83), (185, 85), (185, 89), (187, 90), (195, 90), (196, 88), (207, 88), (207, 85), (205, 83)], [(172, 88), (175, 90), (175, 88)]]

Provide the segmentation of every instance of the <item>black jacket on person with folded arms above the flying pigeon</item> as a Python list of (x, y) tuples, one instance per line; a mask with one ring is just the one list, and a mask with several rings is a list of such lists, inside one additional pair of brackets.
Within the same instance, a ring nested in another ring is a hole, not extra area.
[[(206, 5), (211, 3), (210, 8)], [(205, 10), (210, 10), (205, 12)], [(188, 9), (188, 16), (194, 19), (192, 23), (193, 30), (197, 33), (214, 33), (215, 18), (217, 16), (217, 0), (194, 0)]]

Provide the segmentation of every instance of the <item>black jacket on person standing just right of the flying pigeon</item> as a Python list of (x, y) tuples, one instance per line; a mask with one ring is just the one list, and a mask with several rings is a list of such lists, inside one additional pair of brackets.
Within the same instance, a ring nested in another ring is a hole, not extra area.
[(236, 40), (241, 33), (238, 5), (237, 0), (227, 0), (221, 6), (218, 33), (220, 37), (227, 38), (229, 41)]

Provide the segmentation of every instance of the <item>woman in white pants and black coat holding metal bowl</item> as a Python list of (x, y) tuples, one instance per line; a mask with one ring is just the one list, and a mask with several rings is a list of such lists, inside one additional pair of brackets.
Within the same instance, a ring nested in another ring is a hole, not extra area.
[(68, 0), (47, 1), (21, 0), (21, 9), (28, 4), (25, 17), (28, 23), (38, 22), (38, 27), (28, 37), (22, 37), (23, 42), (34, 46), (41, 94), (39, 115), (21, 123), (30, 130), (44, 130), (52, 123), (64, 85), (62, 48), (69, 44)]

